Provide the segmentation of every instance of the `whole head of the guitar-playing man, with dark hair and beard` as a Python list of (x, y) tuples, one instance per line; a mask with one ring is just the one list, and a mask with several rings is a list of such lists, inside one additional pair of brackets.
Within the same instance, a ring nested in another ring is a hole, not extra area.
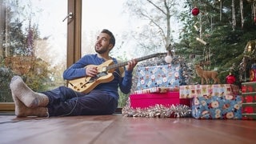
[(98, 54), (109, 53), (110, 50), (114, 47), (115, 38), (110, 30), (102, 30), (97, 37), (97, 42), (95, 44), (95, 51)]

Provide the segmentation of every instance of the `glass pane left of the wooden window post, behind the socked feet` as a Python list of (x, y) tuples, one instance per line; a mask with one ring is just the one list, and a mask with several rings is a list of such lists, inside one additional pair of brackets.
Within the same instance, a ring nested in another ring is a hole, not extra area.
[(13, 102), (14, 75), (35, 91), (64, 85), (67, 1), (0, 2), (0, 102)]

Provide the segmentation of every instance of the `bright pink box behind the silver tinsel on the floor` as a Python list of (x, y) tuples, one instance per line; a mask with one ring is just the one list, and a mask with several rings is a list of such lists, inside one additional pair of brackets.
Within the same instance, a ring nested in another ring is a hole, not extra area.
[(161, 104), (163, 106), (170, 106), (182, 104), (190, 106), (190, 98), (180, 99), (179, 92), (167, 93), (150, 93), (150, 94), (130, 94), (130, 107), (132, 108), (146, 108)]

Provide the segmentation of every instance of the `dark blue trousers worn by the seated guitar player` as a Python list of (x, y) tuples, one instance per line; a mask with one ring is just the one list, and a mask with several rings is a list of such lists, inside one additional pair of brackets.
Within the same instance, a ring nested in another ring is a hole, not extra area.
[(66, 86), (42, 92), (49, 98), (49, 116), (113, 114), (118, 100), (102, 90), (82, 94)]

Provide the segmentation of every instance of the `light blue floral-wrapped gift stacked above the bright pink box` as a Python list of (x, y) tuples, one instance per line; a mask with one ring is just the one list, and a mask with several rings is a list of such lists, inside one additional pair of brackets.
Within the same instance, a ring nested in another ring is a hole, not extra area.
[(152, 87), (178, 87), (180, 85), (180, 65), (169, 64), (164, 66), (138, 67), (136, 90), (145, 90)]

